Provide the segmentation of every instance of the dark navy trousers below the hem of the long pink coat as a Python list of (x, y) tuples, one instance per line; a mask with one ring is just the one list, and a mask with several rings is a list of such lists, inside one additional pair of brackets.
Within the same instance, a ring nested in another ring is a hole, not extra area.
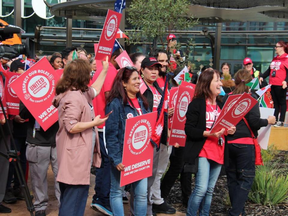
[(60, 208), (58, 216), (82, 216), (84, 215), (88, 198), (89, 185), (65, 184), (59, 182)]

